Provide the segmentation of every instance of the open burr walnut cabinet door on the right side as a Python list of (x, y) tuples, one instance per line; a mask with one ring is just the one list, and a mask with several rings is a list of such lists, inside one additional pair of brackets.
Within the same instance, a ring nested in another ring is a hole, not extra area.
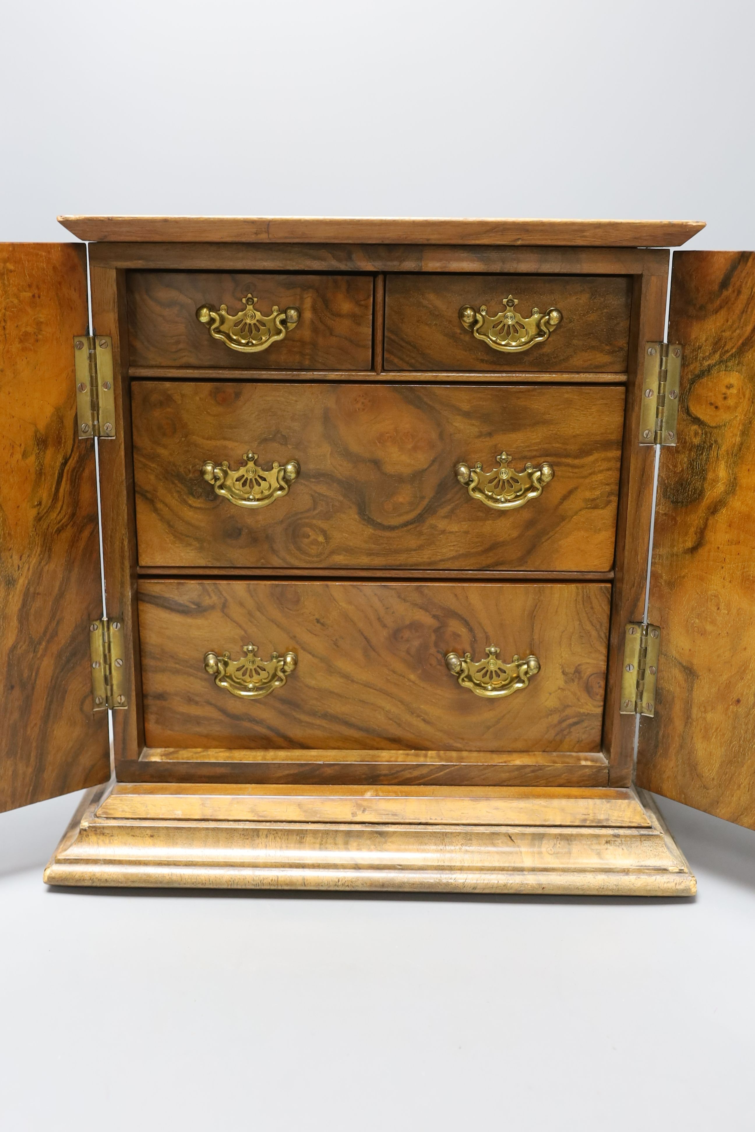
[(684, 346), (678, 444), (660, 458), (661, 655), (637, 782), (755, 829), (754, 252), (675, 252), (669, 342)]

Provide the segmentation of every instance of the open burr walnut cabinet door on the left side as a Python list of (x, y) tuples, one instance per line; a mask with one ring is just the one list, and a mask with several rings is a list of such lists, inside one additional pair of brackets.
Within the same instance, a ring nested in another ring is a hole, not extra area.
[(94, 441), (77, 437), (81, 245), (0, 245), (0, 811), (105, 782)]

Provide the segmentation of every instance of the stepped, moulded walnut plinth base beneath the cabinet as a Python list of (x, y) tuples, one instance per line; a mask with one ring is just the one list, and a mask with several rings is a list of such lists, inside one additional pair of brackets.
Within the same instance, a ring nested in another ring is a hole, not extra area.
[(688, 897), (638, 790), (152, 786), (89, 791), (48, 884)]

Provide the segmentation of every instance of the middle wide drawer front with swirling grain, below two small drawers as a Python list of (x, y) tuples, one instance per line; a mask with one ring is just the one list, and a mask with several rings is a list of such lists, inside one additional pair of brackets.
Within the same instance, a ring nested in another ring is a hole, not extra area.
[[(621, 386), (135, 381), (139, 563), (610, 569), (624, 395)], [(229, 490), (220, 465), (243, 469), (250, 451), (268, 475), (273, 462), (299, 465), (265, 506), (218, 494)], [(503, 451), (508, 464), (496, 460)], [(205, 479), (207, 461), (217, 471)], [(495, 492), (511, 477), (472, 483), (477, 462), (483, 472), (544, 463), (554, 474), (525, 477), (509, 500)]]

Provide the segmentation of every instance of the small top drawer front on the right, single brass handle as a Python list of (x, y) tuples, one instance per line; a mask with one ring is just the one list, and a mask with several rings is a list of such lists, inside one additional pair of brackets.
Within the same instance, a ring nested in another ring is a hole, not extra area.
[[(392, 275), (385, 368), (624, 374), (630, 301), (632, 278), (624, 275)], [(471, 316), (460, 317), (463, 308), (479, 314), (483, 306), (490, 319), (500, 312), (529, 320), (496, 321), (492, 337), (505, 349), (490, 345), (487, 324), (477, 327), (478, 337), (475, 320), (469, 328)], [(555, 308), (560, 320), (533, 323), (534, 308), (542, 316)]]

